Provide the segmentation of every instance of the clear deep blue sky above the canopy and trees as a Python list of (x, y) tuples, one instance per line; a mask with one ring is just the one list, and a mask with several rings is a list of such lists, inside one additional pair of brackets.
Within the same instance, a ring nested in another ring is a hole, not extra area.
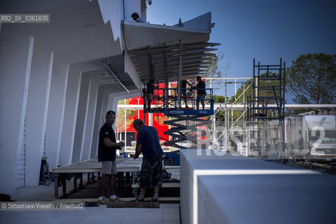
[(227, 77), (251, 77), (253, 58), (279, 64), (282, 57), (288, 67), (302, 54), (336, 54), (335, 0), (152, 1), (147, 20), (154, 24), (174, 25), (211, 12), (216, 25), (210, 41), (221, 43), (221, 65), (230, 63)]

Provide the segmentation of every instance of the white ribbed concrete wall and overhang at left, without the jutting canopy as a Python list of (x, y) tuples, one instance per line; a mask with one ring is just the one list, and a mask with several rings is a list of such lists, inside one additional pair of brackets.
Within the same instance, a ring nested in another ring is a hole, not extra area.
[(50, 171), (97, 156), (101, 115), (113, 102), (109, 96), (125, 90), (94, 82), (85, 72), (104, 69), (101, 59), (123, 55), (122, 3), (0, 2), (8, 13), (52, 15), (50, 24), (1, 25), (0, 193), (15, 192), (20, 155), (25, 155), (26, 186), (38, 184), (44, 155)]

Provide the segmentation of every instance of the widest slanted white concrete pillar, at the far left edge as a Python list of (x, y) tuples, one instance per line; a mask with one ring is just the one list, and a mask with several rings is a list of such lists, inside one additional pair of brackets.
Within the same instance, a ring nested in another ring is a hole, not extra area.
[(15, 193), (34, 38), (0, 41), (0, 192)]

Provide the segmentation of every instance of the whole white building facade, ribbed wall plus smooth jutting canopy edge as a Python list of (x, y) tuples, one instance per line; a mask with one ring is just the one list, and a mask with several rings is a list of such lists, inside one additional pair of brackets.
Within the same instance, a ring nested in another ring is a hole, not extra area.
[(43, 157), (51, 170), (97, 156), (106, 111), (146, 83), (130, 51), (209, 40), (211, 15), (184, 27), (133, 22), (134, 12), (146, 20), (146, 7), (146, 0), (1, 1), (0, 13), (50, 14), (50, 23), (0, 23), (0, 193), (38, 185)]

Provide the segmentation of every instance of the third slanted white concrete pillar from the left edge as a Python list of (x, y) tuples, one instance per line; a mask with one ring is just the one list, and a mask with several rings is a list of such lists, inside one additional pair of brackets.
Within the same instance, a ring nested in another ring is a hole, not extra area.
[(48, 119), (45, 128), (45, 155), (48, 157), (50, 172), (58, 165), (68, 72), (69, 64), (52, 67)]

